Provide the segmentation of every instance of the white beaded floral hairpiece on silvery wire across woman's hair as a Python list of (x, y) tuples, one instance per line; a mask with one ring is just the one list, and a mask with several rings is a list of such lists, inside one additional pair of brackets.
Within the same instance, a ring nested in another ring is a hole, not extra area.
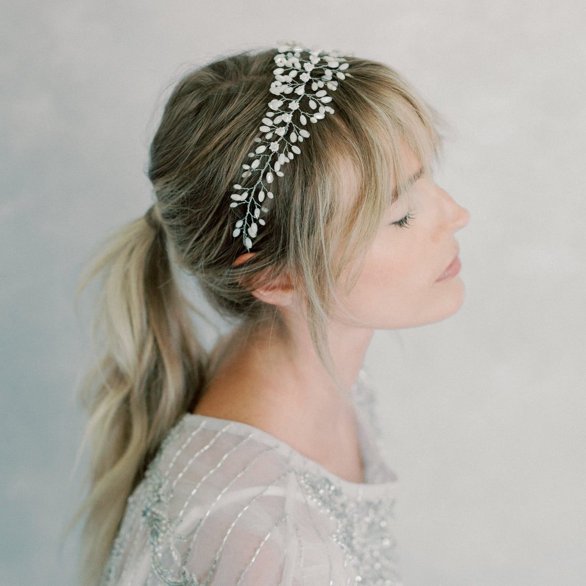
[(260, 216), (268, 212), (263, 206), (265, 197), (273, 197), (270, 184), (275, 175), (283, 176), (283, 166), (301, 153), (299, 143), (309, 138), (309, 132), (303, 127), (308, 121), (315, 123), (325, 118), (326, 113), (334, 113), (327, 105), (332, 101), (328, 90), (335, 91), (338, 80), (350, 75), (344, 73), (349, 63), (338, 52), (283, 45), (278, 47), (274, 60), (277, 68), (272, 72), (275, 80), (269, 91), (278, 97), (268, 103), (270, 110), (258, 129), (262, 136), (254, 139), (257, 146), (254, 152), (248, 153), (248, 158), (254, 160), (242, 165), (241, 176), (247, 179), (252, 176), (253, 180), (247, 182), (250, 187), (236, 183), (233, 189), (239, 193), (230, 196), (233, 200), (230, 207), (246, 207), (246, 214), (237, 220), (232, 236), (242, 236), (247, 250), (253, 246), (258, 225), (265, 224)]

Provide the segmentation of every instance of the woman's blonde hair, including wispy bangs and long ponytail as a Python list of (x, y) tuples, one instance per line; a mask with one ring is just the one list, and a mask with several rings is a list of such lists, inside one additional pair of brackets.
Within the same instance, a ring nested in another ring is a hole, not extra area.
[[(252, 284), (287, 274), (304, 299), (316, 352), (332, 373), (326, 328), (343, 268), (363, 258), (381, 214), (406, 185), (404, 145), (425, 167), (435, 157), (430, 108), (390, 67), (348, 57), (350, 76), (333, 96), (335, 114), (312, 125), (301, 155), (275, 179), (256, 254), (234, 267), (244, 250), (231, 236), (229, 194), (271, 98), (274, 56), (274, 50), (237, 54), (179, 82), (151, 145), (156, 204), (114, 234), (82, 277), (79, 292), (101, 277), (94, 322), (101, 355), (80, 389), (91, 414), (89, 492), (76, 517), (85, 517), (84, 585), (99, 580), (128, 496), (206, 384), (209, 357), (173, 266), (197, 278), (221, 315), (251, 328), (278, 318), (278, 309), (251, 294)], [(345, 203), (348, 171), (356, 192)]]

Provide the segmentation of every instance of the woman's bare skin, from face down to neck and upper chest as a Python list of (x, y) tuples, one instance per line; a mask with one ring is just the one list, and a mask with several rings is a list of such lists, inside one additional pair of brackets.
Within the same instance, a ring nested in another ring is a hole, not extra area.
[[(468, 223), (460, 207), (407, 149), (414, 181), (387, 209), (353, 289), (340, 289), (328, 342), (346, 393), (316, 356), (295, 291), (281, 279), (253, 294), (278, 306), (289, 336), (235, 331), (217, 347), (216, 365), (195, 413), (242, 421), (279, 438), (324, 468), (363, 482), (363, 464), (347, 391), (362, 367), (374, 329), (409, 328), (454, 314), (464, 299), (459, 276), (438, 281), (458, 254), (454, 233)], [(418, 175), (421, 175), (417, 178)], [(417, 179), (415, 179), (417, 178)], [(407, 214), (408, 226), (400, 226)], [(236, 263), (250, 258), (242, 255)], [(342, 282), (353, 267), (347, 267)]]

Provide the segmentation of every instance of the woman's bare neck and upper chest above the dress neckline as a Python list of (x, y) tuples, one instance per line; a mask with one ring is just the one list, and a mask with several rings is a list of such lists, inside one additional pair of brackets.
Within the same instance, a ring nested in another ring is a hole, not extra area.
[(342, 389), (329, 376), (305, 321), (285, 339), (271, 329), (237, 329), (217, 347), (209, 383), (195, 413), (242, 421), (291, 445), (342, 478), (362, 482), (349, 390), (372, 329), (332, 325), (328, 345)]

